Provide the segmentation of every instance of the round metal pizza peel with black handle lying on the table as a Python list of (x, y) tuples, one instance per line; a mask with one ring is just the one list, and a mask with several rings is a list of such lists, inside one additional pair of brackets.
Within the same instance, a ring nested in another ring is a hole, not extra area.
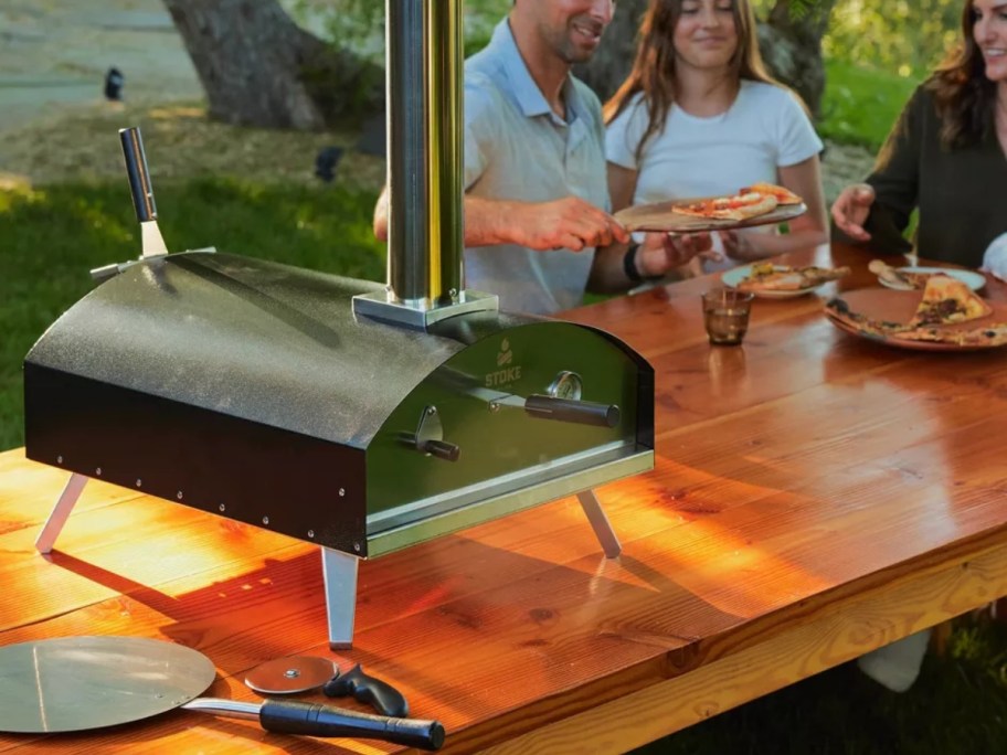
[(134, 637), (65, 637), (0, 648), (0, 732), (78, 732), (186, 708), (257, 720), (282, 734), (381, 740), (437, 749), (436, 721), (369, 715), (300, 701), (200, 698), (216, 677), (203, 653)]

